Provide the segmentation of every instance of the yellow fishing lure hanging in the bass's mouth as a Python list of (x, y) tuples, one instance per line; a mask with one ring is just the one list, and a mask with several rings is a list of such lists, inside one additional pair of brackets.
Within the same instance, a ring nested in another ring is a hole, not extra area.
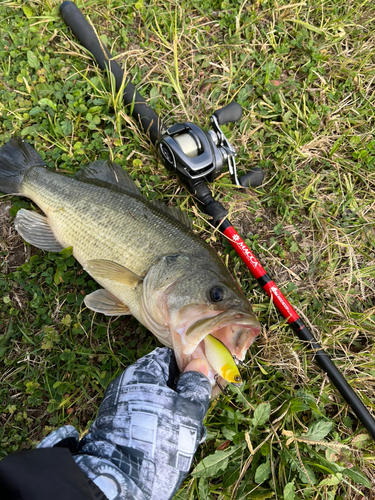
[(242, 378), (233, 356), (221, 340), (207, 335), (204, 338), (206, 359), (224, 380), (231, 384), (242, 384)]

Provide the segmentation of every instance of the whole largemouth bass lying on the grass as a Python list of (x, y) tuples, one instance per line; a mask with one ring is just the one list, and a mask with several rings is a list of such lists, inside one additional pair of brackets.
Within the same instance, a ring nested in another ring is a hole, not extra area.
[(216, 380), (228, 383), (210, 363), (220, 359), (218, 344), (205, 338), (211, 335), (244, 360), (260, 325), (186, 212), (148, 201), (113, 161), (95, 161), (69, 176), (47, 167), (19, 137), (0, 148), (0, 191), (27, 197), (44, 213), (18, 211), (15, 228), (26, 242), (52, 252), (72, 247), (103, 287), (85, 297), (89, 309), (133, 315), (174, 350), (180, 371), (203, 360), (213, 396)]

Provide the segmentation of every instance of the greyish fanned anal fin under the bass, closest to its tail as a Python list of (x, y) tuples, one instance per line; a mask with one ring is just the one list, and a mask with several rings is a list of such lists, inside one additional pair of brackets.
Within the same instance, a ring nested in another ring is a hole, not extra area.
[(56, 240), (46, 217), (21, 208), (14, 226), (22, 238), (34, 247), (48, 252), (60, 252), (63, 247)]

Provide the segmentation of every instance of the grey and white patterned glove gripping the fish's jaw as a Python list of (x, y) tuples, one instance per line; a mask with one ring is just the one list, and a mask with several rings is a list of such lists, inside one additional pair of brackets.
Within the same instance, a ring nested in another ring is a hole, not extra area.
[(66, 426), (39, 447), (66, 443), (109, 500), (172, 498), (205, 439), (211, 395), (209, 380), (198, 372), (183, 373), (170, 389), (173, 357), (171, 349), (158, 348), (111, 382), (82, 441)]

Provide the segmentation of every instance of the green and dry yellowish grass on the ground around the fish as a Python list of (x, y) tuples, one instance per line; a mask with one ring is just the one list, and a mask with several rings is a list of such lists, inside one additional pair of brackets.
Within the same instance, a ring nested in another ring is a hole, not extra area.
[[(375, 490), (375, 447), (268, 297), (158, 163), (59, 2), (0, 4), (0, 143), (22, 135), (51, 168), (114, 158), (142, 192), (181, 205), (222, 256), (263, 325), (241, 390), (211, 405), (208, 439), (181, 499), (359, 499)], [(367, 407), (375, 410), (375, 9), (371, 2), (79, 2), (166, 124), (225, 126), (240, 169), (212, 185), (231, 220)], [(242, 173), (242, 172), (240, 172)], [(69, 252), (22, 242), (0, 199), (0, 454), (71, 423), (84, 432), (108, 382), (157, 341), (133, 319), (82, 306), (95, 289)], [(223, 243), (223, 244), (222, 244)]]

